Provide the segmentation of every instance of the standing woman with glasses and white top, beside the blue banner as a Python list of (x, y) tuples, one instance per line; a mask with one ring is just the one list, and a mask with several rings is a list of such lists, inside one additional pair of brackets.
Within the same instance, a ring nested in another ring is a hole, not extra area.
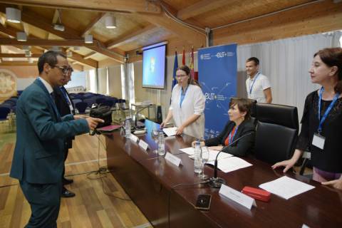
[(177, 68), (176, 79), (178, 83), (172, 89), (169, 112), (160, 127), (165, 127), (166, 123), (173, 118), (177, 126), (177, 135), (185, 133), (202, 139), (205, 105), (202, 89), (192, 80), (188, 66)]

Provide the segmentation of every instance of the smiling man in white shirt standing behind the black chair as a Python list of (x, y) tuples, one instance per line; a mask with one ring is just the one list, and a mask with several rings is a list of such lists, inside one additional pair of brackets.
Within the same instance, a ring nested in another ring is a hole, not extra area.
[(256, 57), (247, 59), (246, 71), (249, 76), (246, 80), (248, 98), (257, 100), (258, 103), (271, 103), (271, 84), (269, 79), (259, 72), (259, 59)]

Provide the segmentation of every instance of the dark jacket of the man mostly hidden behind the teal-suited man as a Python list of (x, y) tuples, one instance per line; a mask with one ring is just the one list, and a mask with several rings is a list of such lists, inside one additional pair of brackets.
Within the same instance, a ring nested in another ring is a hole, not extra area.
[[(65, 88), (63, 87), (63, 89)], [(66, 98), (64, 97), (63, 92), (61, 90), (62, 88), (59, 88), (59, 87), (53, 88), (57, 110), (59, 111), (61, 116), (68, 115), (68, 114), (75, 114), (75, 111), (71, 112), (70, 107), (68, 103), (66, 102)], [(66, 95), (68, 95), (69, 97), (69, 94), (67, 91), (66, 91)], [(71, 100), (70, 97), (69, 97), (69, 100), (71, 101), (71, 105), (73, 105), (73, 101)], [(75, 105), (73, 105), (73, 110), (75, 110)], [(67, 148), (73, 147), (73, 139), (74, 137), (66, 138)]]

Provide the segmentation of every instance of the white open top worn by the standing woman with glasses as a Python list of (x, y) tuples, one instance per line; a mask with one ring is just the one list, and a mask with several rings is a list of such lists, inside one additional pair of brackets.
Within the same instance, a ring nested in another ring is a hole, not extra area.
[(172, 110), (175, 125), (179, 127), (193, 114), (200, 115), (194, 123), (191, 123), (184, 129), (184, 133), (198, 139), (203, 139), (205, 98), (202, 89), (199, 86), (189, 85), (182, 102), (182, 107), (180, 106), (181, 92), (182, 86), (178, 84), (172, 89), (170, 110)]

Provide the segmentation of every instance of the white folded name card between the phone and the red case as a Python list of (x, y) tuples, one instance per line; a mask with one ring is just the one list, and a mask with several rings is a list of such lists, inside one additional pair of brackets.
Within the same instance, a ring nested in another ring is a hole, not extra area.
[(227, 197), (228, 199), (232, 199), (234, 202), (241, 204), (248, 209), (252, 209), (252, 206), (257, 207), (257, 203), (255, 199), (249, 197), (248, 195), (244, 195), (237, 190), (232, 189), (232, 187), (228, 187), (227, 185), (222, 185), (219, 189), (219, 194)]

